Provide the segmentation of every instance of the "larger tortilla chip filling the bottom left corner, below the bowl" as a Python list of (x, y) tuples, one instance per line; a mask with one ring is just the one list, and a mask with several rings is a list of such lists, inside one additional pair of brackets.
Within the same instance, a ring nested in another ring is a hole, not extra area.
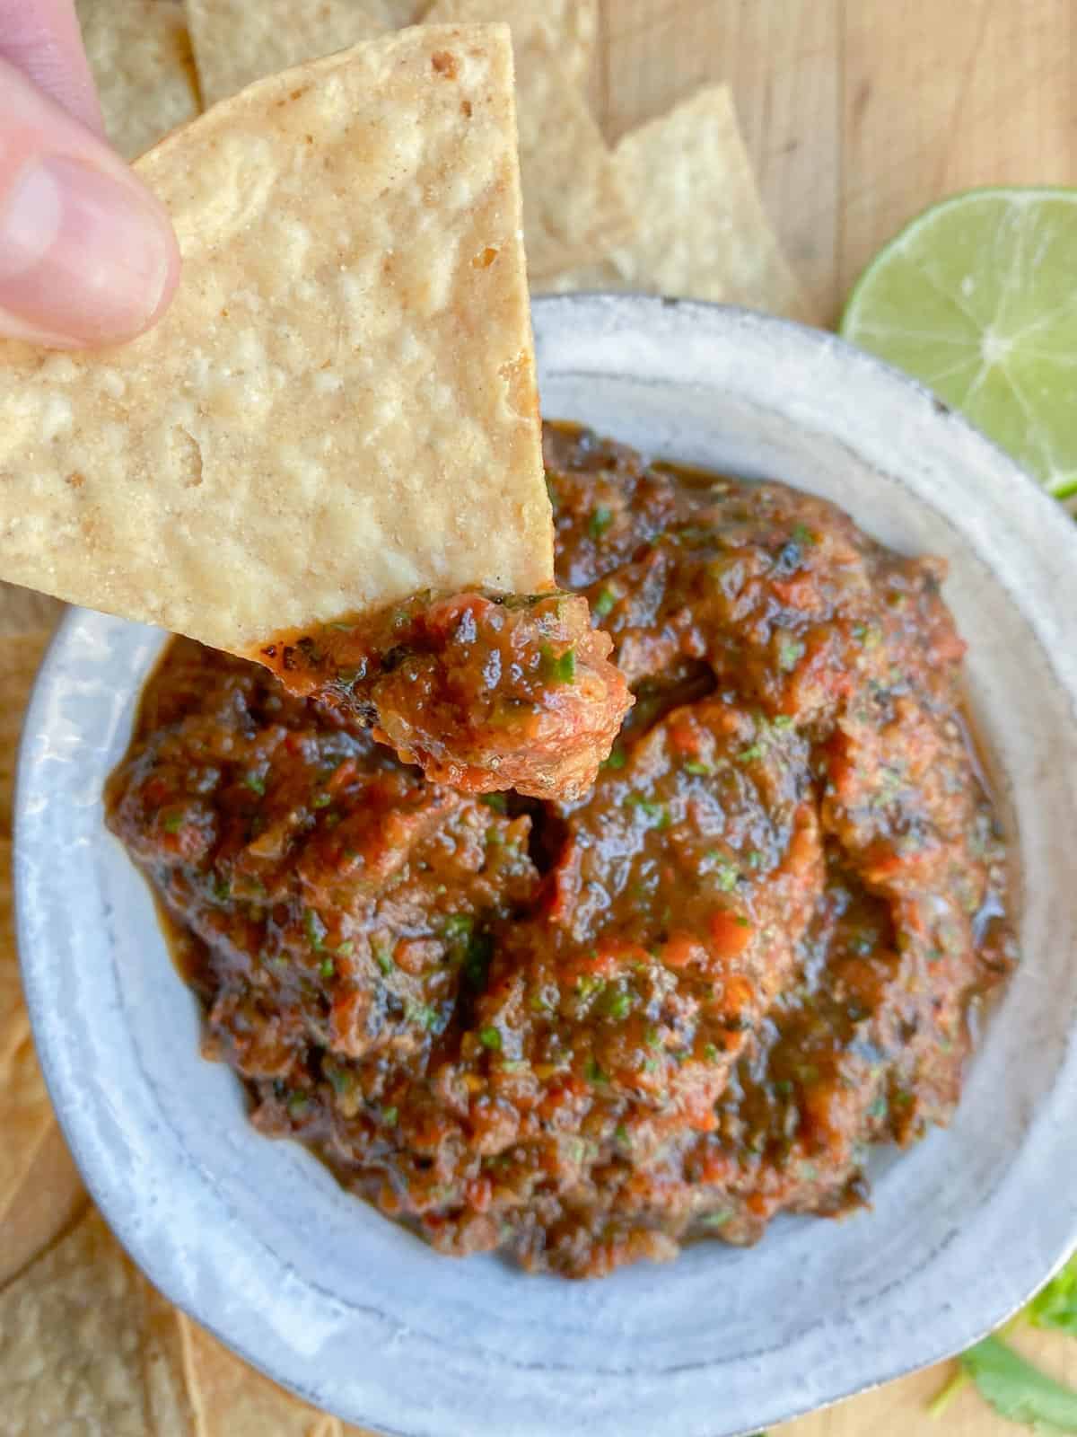
[(190, 1437), (168, 1303), (90, 1211), (0, 1293), (0, 1411), (20, 1437)]

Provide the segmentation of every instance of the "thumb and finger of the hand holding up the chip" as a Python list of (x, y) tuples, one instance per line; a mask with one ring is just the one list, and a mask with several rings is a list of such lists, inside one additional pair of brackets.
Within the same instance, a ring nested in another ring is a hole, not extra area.
[(178, 276), (164, 207), (103, 138), (73, 0), (0, 0), (0, 336), (134, 339)]

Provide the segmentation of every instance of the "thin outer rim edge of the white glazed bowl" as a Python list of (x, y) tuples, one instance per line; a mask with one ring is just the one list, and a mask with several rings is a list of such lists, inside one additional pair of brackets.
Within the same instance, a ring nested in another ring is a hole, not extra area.
[[(689, 331), (705, 332), (708, 338), (721, 345), (734, 343), (738, 335), (744, 336), (752, 333), (755, 336), (763, 336), (763, 339), (773, 336), (775, 342), (781, 342), (785, 346), (791, 345), (798, 349), (808, 365), (817, 364), (823, 359), (823, 356), (826, 356), (829, 362), (843, 368), (850, 375), (863, 374), (870, 376), (873, 384), (882, 385), (885, 391), (889, 391), (887, 398), (892, 395), (895, 405), (905, 405), (908, 410), (912, 410), (913, 407), (919, 407), (920, 410), (929, 407), (935, 415), (931, 422), (939, 427), (939, 433), (945, 428), (952, 434), (958, 434), (961, 437), (961, 443), (976, 454), (988, 468), (994, 470), (997, 479), (1005, 480), (1007, 484), (1017, 486), (1021, 504), (1030, 506), (1035, 513), (1037, 529), (1043, 533), (1043, 540), (1054, 546), (1066, 545), (1073, 549), (1074, 558), (1077, 558), (1077, 537), (1073, 522), (1064, 513), (1061, 506), (1047, 496), (1035, 484), (1035, 481), (1017, 466), (1014, 460), (988, 441), (978, 430), (974, 428), (974, 425), (971, 425), (956, 411), (951, 410), (949, 405), (938, 399), (926, 387), (908, 375), (900, 374), (883, 361), (846, 343), (836, 335), (810, 329), (796, 323), (794, 320), (761, 315), (737, 306), (714, 305), (702, 300), (671, 300), (640, 295), (579, 293), (538, 296), (533, 300), (533, 310), (536, 316), (536, 339), (540, 355), (546, 332), (557, 331), (559, 328), (572, 326), (577, 332), (586, 332), (589, 326), (597, 326), (606, 333), (616, 336), (617, 332), (622, 331), (638, 332), (652, 331), (655, 328), (671, 328), (676, 331), (678, 326), (684, 323)], [(29, 884), (29, 865), (26, 862), (26, 854), (23, 852), (22, 839), (23, 833), (30, 831), (29, 808), (33, 789), (33, 736), (40, 727), (45, 707), (49, 700), (49, 691), (56, 680), (56, 671), (65, 660), (65, 650), (70, 641), (70, 634), (83, 616), (85, 611), (75, 609), (65, 615), (62, 624), (59, 625), (39, 670), (33, 694), (26, 710), (23, 737), (20, 740), (14, 803), (16, 920), (20, 966), (26, 990), (26, 1002), (30, 1010), (34, 1036), (39, 1040), (42, 1069), (63, 1135), (67, 1140), (90, 1194), (106, 1214), (109, 1224), (113, 1226), (113, 1230), (116, 1232), (116, 1236), (123, 1247), (148, 1273), (151, 1280), (157, 1286), (162, 1288), (162, 1290), (168, 1292), (169, 1273), (162, 1270), (162, 1265), (157, 1260), (155, 1252), (152, 1252), (141, 1240), (134, 1221), (129, 1219), (115, 1219), (113, 1214), (118, 1210), (125, 1211), (123, 1204), (116, 1204), (115, 1193), (109, 1190), (108, 1184), (102, 1184), (101, 1174), (93, 1171), (92, 1163), (86, 1160), (82, 1118), (76, 1118), (78, 1109), (66, 1101), (70, 1095), (57, 1075), (49, 1043), (40, 1040), (45, 1027), (42, 1013), (45, 1004), (49, 1003), (45, 983), (47, 964), (42, 961), (43, 956), (36, 953), (33, 950), (33, 944), (29, 941), (24, 927), (24, 901), (23, 897), (20, 897), (24, 894), (26, 885)], [(115, 624), (119, 621), (109, 622)], [(1066, 688), (1070, 703), (1077, 707), (1077, 660), (1074, 662), (1068, 662), (1067, 660), (1061, 665), (1061, 670), (1055, 667), (1054, 673)], [(1073, 1114), (1077, 1108), (1077, 1042), (1074, 1040), (1077, 1035), (1071, 1032), (1070, 1038), (1071, 1042), (1068, 1050), (1060, 1065), (1058, 1081), (1045, 1098), (1050, 1098), (1053, 1104), (1057, 1105), (1063, 1096), (1067, 1096), (1068, 1112)], [(1061, 1092), (1063, 1088), (1066, 1089), (1064, 1095)], [(1032, 1118), (1030, 1131), (1035, 1127), (1035, 1122), (1037, 1119)], [(1077, 1167), (1074, 1168), (1074, 1175), (1077, 1175)], [(982, 1319), (974, 1321), (969, 1325), (968, 1335), (962, 1338), (959, 1344), (949, 1344), (943, 1351), (932, 1351), (926, 1355), (919, 1354), (913, 1358), (905, 1355), (890, 1364), (879, 1362), (875, 1371), (859, 1377), (852, 1387), (844, 1385), (840, 1390), (829, 1391), (821, 1398), (817, 1398), (816, 1394), (816, 1397), (807, 1403), (797, 1403), (797, 1400), (790, 1394), (783, 1398), (784, 1405), (780, 1405), (780, 1410), (773, 1408), (763, 1413), (758, 1420), (742, 1423), (737, 1428), (722, 1428), (725, 1437), (729, 1437), (734, 1430), (748, 1433), (754, 1431), (760, 1424), (771, 1426), (778, 1421), (788, 1421), (806, 1413), (816, 1411), (820, 1407), (840, 1401), (844, 1397), (869, 1391), (925, 1365), (952, 1357), (954, 1352), (961, 1351), (969, 1342), (976, 1341), (979, 1336), (992, 1331), (1066, 1262), (1070, 1250), (1074, 1244), (1077, 1244), (1077, 1183), (1071, 1184), (1071, 1193), (1073, 1196), (1067, 1197), (1064, 1201), (1060, 1200), (1055, 1204), (1053, 1230), (1057, 1230), (1057, 1239), (1051, 1240), (1051, 1250), (1055, 1256), (1048, 1270), (1037, 1270), (1035, 1276), (1028, 1275), (1021, 1298), (1018, 1300), (1012, 1300), (1011, 1298), (1010, 1300), (1001, 1303), (995, 1312), (984, 1313)], [(257, 1354), (248, 1352), (241, 1341), (237, 1341), (234, 1332), (230, 1332), (230, 1323), (221, 1321), (214, 1313), (207, 1315), (191, 1311), (191, 1308), (185, 1303), (181, 1305), (187, 1308), (195, 1321), (207, 1326), (234, 1351), (240, 1352), (240, 1355), (251, 1362), (251, 1365), (260, 1368), (261, 1371), (269, 1371), (269, 1375), (277, 1382), (292, 1388), (309, 1401), (320, 1405), (332, 1404), (335, 1408), (339, 1408), (339, 1403), (333, 1403), (332, 1391), (325, 1391), (319, 1388), (317, 1384), (312, 1385), (310, 1374), (302, 1362), (299, 1364), (300, 1371), (297, 1372), (274, 1371), (269, 1368)], [(684, 1368), (679, 1369), (681, 1374), (684, 1374)], [(721, 1380), (721, 1362), (718, 1361), (694, 1365), (691, 1371), (696, 1381), (705, 1380), (708, 1372), (715, 1374), (715, 1377), (711, 1378), (712, 1381)], [(665, 1374), (658, 1374), (655, 1380), (658, 1381), (663, 1375)], [(780, 1385), (781, 1384), (775, 1384), (775, 1387)], [(348, 1415), (350, 1421), (366, 1421), (368, 1424), (373, 1424), (378, 1430), (386, 1433), (398, 1430), (386, 1426), (381, 1415), (368, 1415), (365, 1418), (362, 1414), (349, 1413)], [(527, 1430), (537, 1431), (538, 1428)], [(409, 1428), (409, 1433), (412, 1431), (416, 1430)]]

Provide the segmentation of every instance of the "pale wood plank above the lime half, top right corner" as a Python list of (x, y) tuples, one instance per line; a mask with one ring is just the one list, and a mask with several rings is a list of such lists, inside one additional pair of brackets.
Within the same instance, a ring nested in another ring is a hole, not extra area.
[(839, 287), (908, 218), (984, 184), (1073, 184), (1073, 0), (843, 6)]

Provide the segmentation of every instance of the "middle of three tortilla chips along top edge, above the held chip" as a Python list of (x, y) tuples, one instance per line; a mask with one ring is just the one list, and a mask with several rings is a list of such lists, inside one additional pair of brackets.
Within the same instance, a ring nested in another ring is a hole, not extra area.
[(187, 16), (207, 105), (386, 30), (355, 0), (187, 0)]

